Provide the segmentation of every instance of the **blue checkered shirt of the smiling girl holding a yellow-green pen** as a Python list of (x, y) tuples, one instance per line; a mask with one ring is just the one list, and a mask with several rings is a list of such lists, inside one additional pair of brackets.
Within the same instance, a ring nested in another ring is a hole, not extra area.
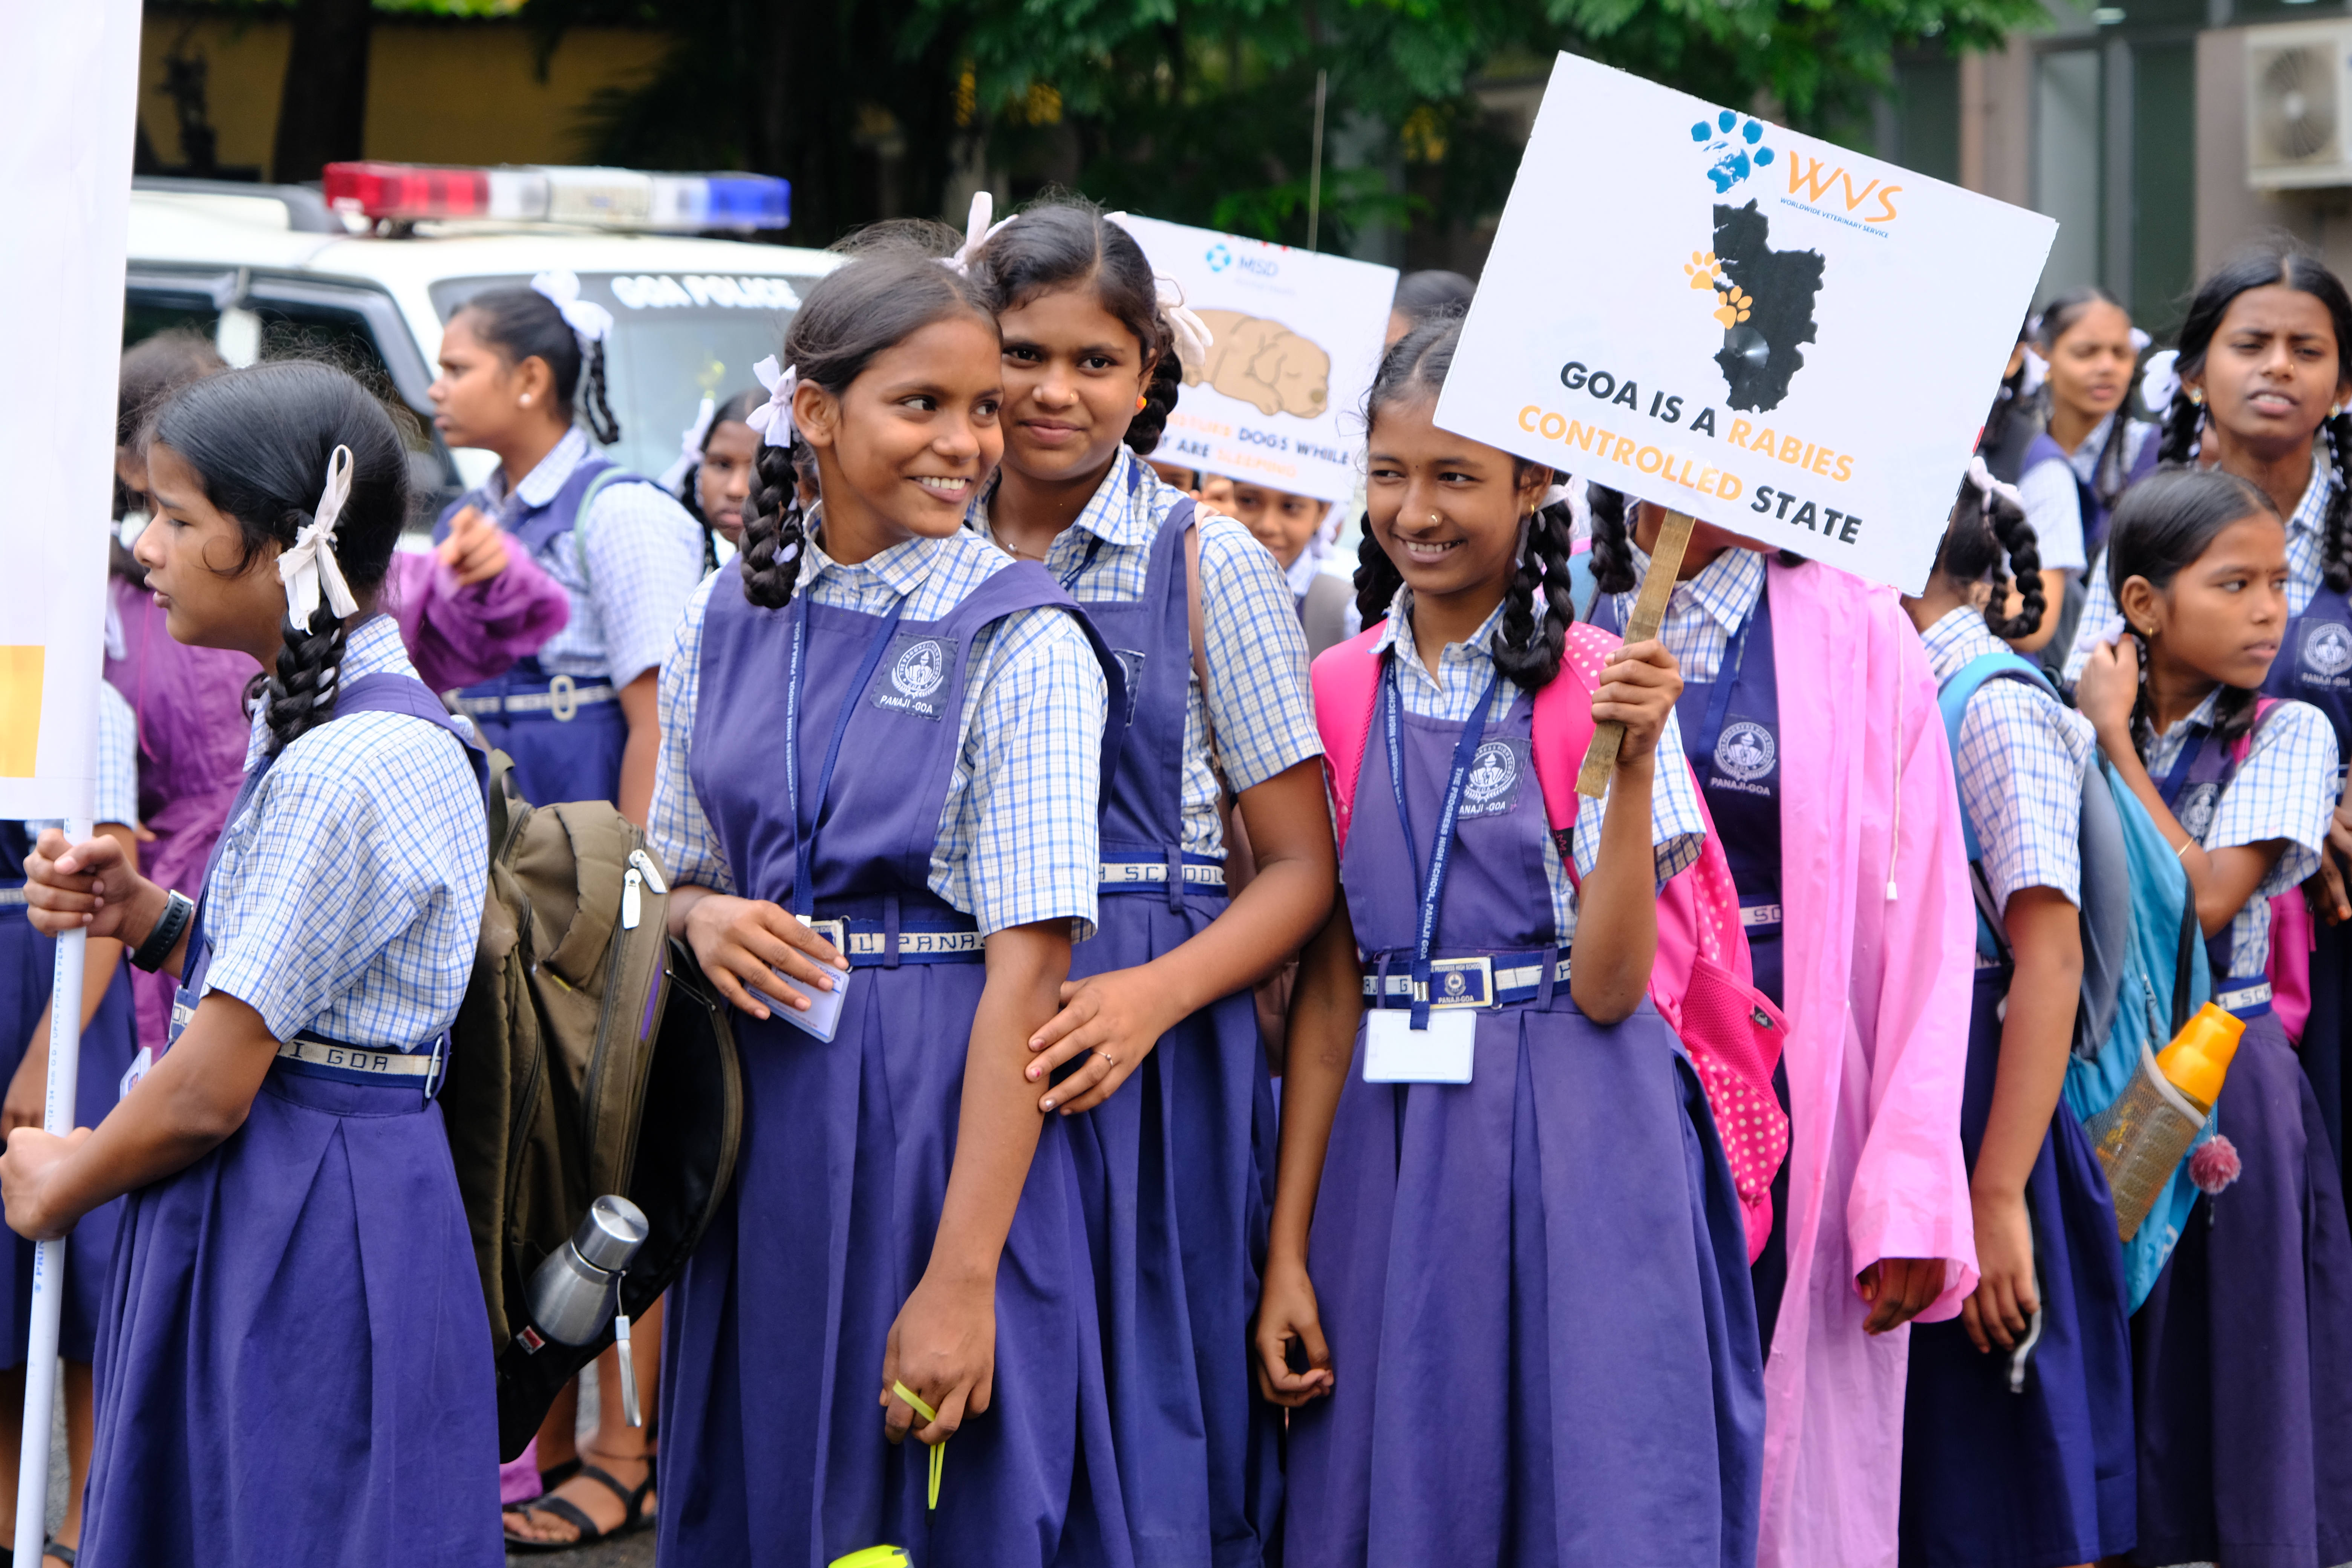
[[(974, 534), (915, 538), (856, 567), (809, 543), (795, 592), (868, 616), (887, 616), (903, 597), (908, 621), (941, 621), (1009, 564)], [(727, 853), (689, 776), (703, 611), (715, 581), (687, 604), (677, 646), (661, 665), (661, 762), (647, 837), (677, 882), (734, 893)], [(1044, 919), (1073, 922), (1080, 938), (1094, 933), (1108, 712), (1110, 689), (1094, 644), (1068, 614), (1025, 609), (974, 632), (929, 884), (971, 914), (981, 933)], [(851, 743), (854, 736), (856, 726)], [(790, 762), (779, 757), (776, 766)]]

